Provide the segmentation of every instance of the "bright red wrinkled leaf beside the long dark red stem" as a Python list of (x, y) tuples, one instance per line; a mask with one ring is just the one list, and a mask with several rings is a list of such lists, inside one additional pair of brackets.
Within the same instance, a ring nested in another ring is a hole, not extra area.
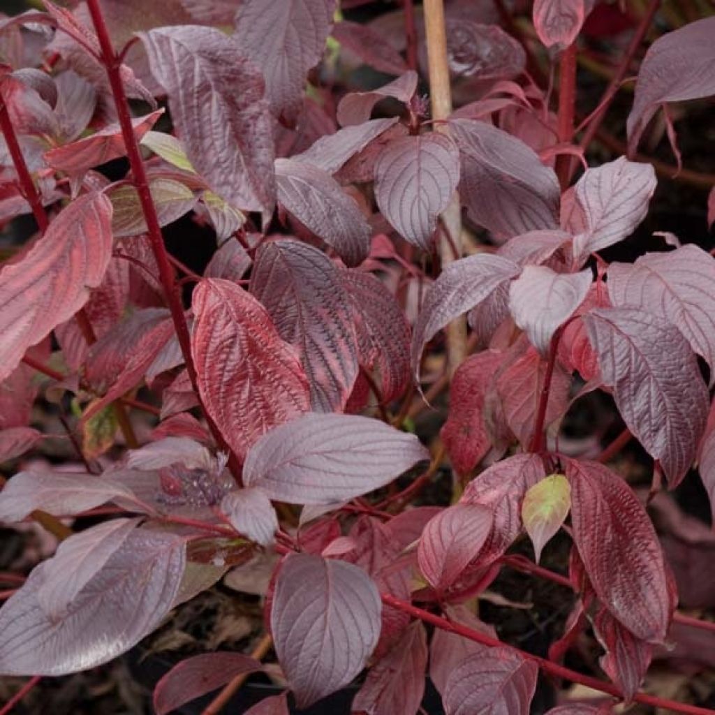
[(263, 433), (307, 412), (308, 385), (295, 350), (250, 293), (220, 278), (194, 289), (191, 351), (204, 405), (243, 458)]

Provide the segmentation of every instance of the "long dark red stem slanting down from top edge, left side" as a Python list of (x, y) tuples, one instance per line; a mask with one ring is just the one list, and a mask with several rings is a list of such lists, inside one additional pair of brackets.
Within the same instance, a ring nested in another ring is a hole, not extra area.
[(184, 316), (184, 306), (182, 305), (182, 300), (177, 290), (174, 269), (169, 261), (169, 254), (167, 253), (166, 247), (164, 246), (162, 230), (159, 226), (159, 219), (157, 217), (157, 210), (154, 207), (154, 201), (152, 200), (152, 194), (149, 191), (147, 172), (144, 171), (144, 162), (142, 161), (142, 155), (139, 153), (137, 137), (134, 136), (132, 115), (129, 113), (127, 96), (124, 94), (124, 84), (122, 84), (122, 77), (119, 74), (119, 67), (121, 66), (121, 63), (119, 61), (119, 57), (117, 57), (117, 54), (114, 52), (112, 41), (109, 39), (109, 31), (107, 30), (107, 24), (104, 22), (102, 9), (99, 7), (99, 0), (87, 0), (87, 7), (89, 9), (89, 14), (92, 16), (94, 29), (97, 31), (99, 46), (102, 49), (102, 63), (104, 64), (105, 69), (107, 69), (107, 77), (109, 78), (109, 84), (112, 87), (114, 104), (117, 107), (117, 117), (119, 117), (119, 125), (122, 127), (124, 145), (127, 147), (129, 166), (132, 168), (133, 183), (137, 188), (139, 202), (142, 204), (144, 220), (147, 222), (149, 241), (152, 244), (152, 252), (154, 253), (154, 258), (156, 259), (157, 266), (159, 267), (159, 280), (162, 282), (162, 287), (164, 288), (164, 293), (167, 297), (169, 310), (171, 311), (172, 320), (174, 321), (174, 327), (179, 340), (179, 346), (181, 347), (182, 355), (184, 356), (184, 363), (186, 363), (189, 380), (191, 380), (191, 384), (197, 395), (199, 404), (202, 405), (209, 429), (211, 430), (218, 447), (229, 455), (229, 468), (237, 483), (241, 485), (242, 478), (240, 461), (227, 445), (226, 440), (223, 438), (219, 428), (209, 415), (198, 390), (196, 368), (191, 355), (189, 327), (186, 322), (186, 317)]

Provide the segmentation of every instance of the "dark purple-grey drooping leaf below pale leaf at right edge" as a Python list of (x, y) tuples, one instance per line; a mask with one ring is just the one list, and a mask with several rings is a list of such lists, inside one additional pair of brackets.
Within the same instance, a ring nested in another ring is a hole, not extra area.
[(709, 405), (690, 345), (677, 327), (637, 308), (599, 308), (583, 322), (623, 421), (677, 485), (693, 463)]

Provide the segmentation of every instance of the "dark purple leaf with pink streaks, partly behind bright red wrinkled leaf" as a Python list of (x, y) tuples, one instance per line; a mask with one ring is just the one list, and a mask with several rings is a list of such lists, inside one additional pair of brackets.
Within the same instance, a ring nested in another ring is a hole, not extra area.
[(300, 241), (267, 242), (257, 252), (250, 291), (280, 337), (296, 347), (310, 383), (312, 409), (343, 410), (358, 376), (358, 341), (335, 264)]

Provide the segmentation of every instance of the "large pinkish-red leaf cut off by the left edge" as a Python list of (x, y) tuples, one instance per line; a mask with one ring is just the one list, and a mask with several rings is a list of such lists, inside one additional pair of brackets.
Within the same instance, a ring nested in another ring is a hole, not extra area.
[(24, 352), (74, 315), (112, 257), (112, 204), (103, 194), (74, 199), (29, 252), (0, 271), (0, 380)]

